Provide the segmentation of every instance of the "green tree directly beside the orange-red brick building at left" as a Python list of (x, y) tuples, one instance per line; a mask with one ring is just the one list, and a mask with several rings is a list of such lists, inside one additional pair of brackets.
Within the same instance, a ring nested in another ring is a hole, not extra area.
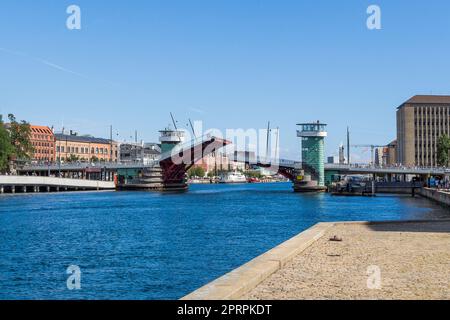
[(14, 156), (18, 160), (30, 159), (34, 153), (31, 144), (31, 127), (26, 121), (18, 122), (13, 114), (8, 115), (9, 136), (14, 148)]

